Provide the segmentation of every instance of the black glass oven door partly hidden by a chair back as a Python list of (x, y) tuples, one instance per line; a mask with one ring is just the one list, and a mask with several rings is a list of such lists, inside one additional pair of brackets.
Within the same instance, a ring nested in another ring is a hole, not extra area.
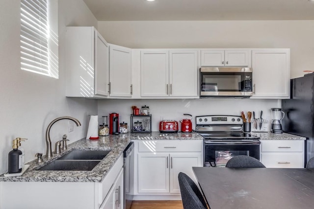
[(204, 166), (225, 167), (237, 155), (248, 155), (260, 160), (259, 140), (255, 141), (206, 141), (204, 140)]

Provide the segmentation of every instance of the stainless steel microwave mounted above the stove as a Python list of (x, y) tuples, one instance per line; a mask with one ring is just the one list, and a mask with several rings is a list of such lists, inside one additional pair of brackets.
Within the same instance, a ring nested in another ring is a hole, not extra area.
[(250, 97), (252, 91), (251, 68), (200, 69), (200, 97)]

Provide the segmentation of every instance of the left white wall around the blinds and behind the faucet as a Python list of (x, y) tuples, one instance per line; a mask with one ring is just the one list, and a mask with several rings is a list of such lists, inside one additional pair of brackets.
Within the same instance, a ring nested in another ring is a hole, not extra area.
[(65, 26), (97, 26), (97, 20), (82, 0), (59, 0), (59, 79), (20, 69), (20, 1), (0, 2), (0, 173), (7, 170), (12, 139), (23, 143), (25, 161), (35, 153), (46, 154), (45, 131), (59, 116), (73, 116), (82, 126), (68, 133), (68, 121), (51, 129), (52, 148), (67, 134), (70, 142), (86, 137), (87, 115), (97, 114), (97, 101), (65, 97)]

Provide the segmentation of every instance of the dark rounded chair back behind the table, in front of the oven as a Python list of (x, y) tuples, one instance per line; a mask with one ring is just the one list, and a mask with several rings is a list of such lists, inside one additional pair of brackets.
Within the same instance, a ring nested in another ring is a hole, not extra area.
[(253, 158), (251, 156), (247, 155), (238, 155), (230, 159), (226, 167), (233, 167), (233, 168), (238, 168), (238, 167), (265, 167), (263, 163), (261, 163), (259, 160), (256, 158)]

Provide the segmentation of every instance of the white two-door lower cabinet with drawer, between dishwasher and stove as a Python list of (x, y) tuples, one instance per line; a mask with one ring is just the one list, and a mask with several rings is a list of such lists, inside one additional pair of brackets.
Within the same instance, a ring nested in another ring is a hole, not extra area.
[(180, 194), (178, 174), (196, 181), (192, 167), (203, 166), (203, 140), (139, 140), (135, 146), (138, 194)]

